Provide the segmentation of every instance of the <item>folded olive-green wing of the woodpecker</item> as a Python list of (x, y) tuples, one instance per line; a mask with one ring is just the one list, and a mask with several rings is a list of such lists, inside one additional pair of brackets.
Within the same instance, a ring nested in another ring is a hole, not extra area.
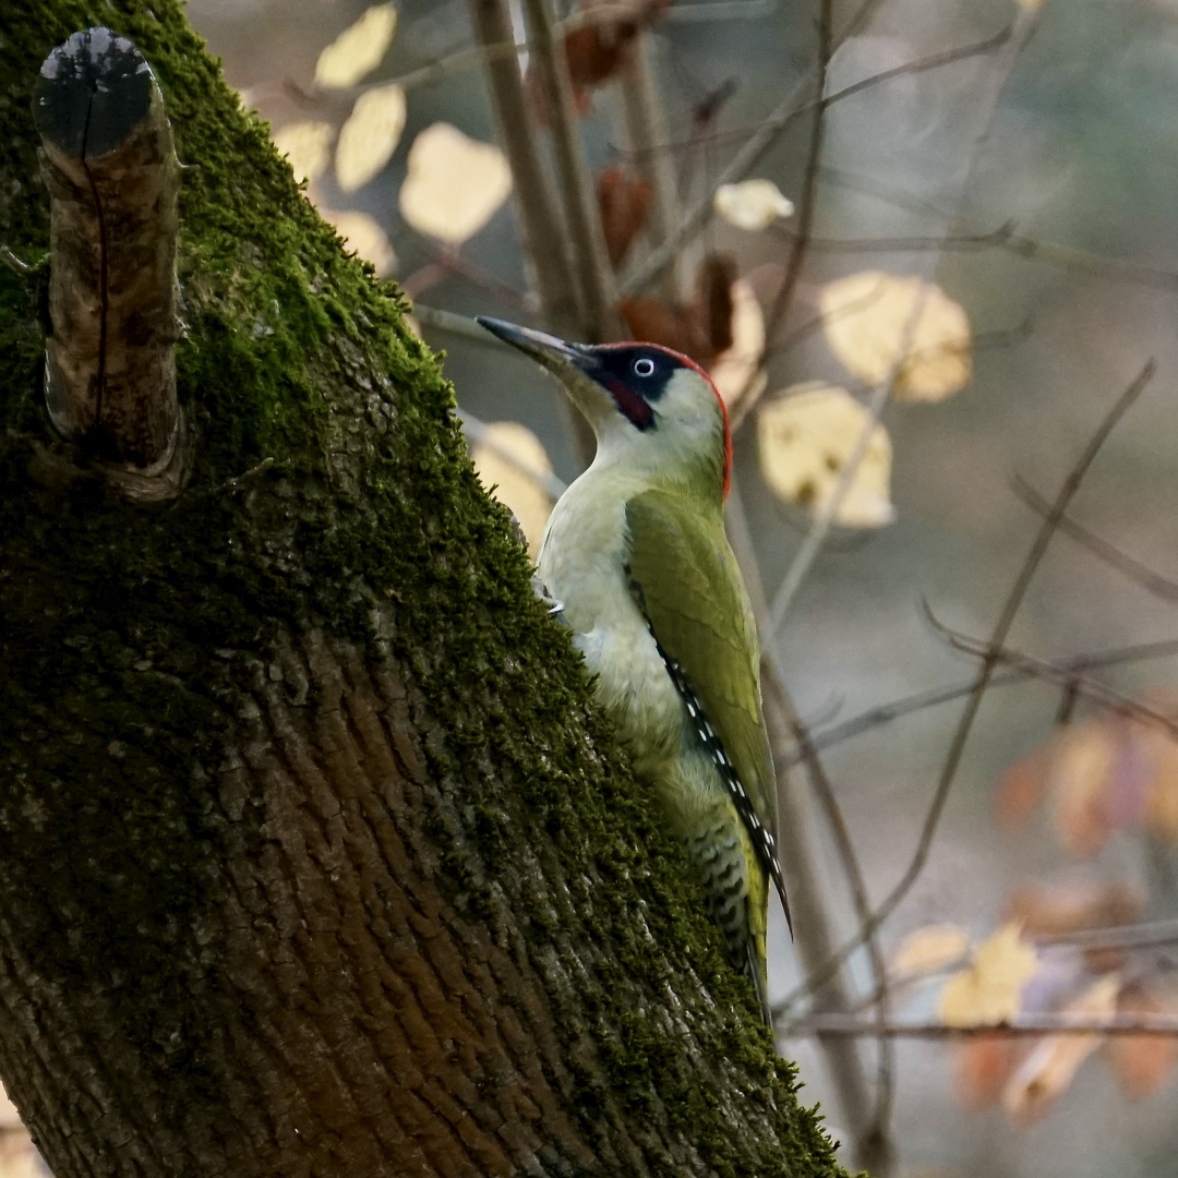
[(630, 587), (655, 641), (682, 668), (756, 819), (775, 839), (777, 795), (761, 714), (756, 624), (723, 521), (696, 511), (682, 495), (657, 490), (631, 498), (626, 518)]

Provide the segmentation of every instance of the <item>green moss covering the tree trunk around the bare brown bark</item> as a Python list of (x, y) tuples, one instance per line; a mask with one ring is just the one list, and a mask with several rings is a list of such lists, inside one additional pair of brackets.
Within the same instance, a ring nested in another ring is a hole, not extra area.
[[(31, 477), (51, 442), (44, 267), (33, 283), (0, 267), (0, 876), (34, 967), (82, 988), (120, 986), (126, 1033), (185, 1078), (177, 1099), (218, 1098), (201, 1072), (207, 1028), (186, 1005), (194, 985), (216, 986), (214, 966), (194, 979), (205, 959), (177, 947), (191, 948), (229, 842), (243, 838), (211, 788), (246, 686), (239, 653), (316, 626), (376, 649), (372, 607), (393, 603), (392, 651), (450, 726), (431, 769), (470, 789), (487, 865), (478, 876), (455, 858), (455, 902), (475, 914), (490, 905), (495, 865), (527, 815), (552, 854), (595, 867), (596, 888), (574, 884), (585, 891), (569, 904), (614, 949), (602, 992), (660, 992), (666, 960), (649, 953), (648, 928), (715, 998), (716, 1017), (695, 1028), (704, 1052), (739, 1061), (749, 1099), (782, 1110), (780, 1141), (734, 1141), (675, 1044), (633, 1014), (624, 1047), (602, 1038), (605, 1076), (580, 1077), (587, 1136), (604, 1086), (643, 1113), (664, 1110), (719, 1174), (747, 1173), (739, 1159), (750, 1153), (759, 1174), (834, 1172), (682, 856), (587, 706), (567, 633), (531, 596), (527, 555), (478, 487), (452, 391), (395, 290), (342, 254), (174, 0), (12, 7), (0, 33), (0, 241), (45, 257), (29, 88), (77, 28), (104, 22), (139, 45), (191, 165), (178, 364), (196, 464), (176, 503), (128, 508), (85, 478)], [(470, 667), (488, 668), (483, 686)], [(448, 832), (437, 838), (444, 848)], [(558, 939), (547, 904), (512, 902)]]

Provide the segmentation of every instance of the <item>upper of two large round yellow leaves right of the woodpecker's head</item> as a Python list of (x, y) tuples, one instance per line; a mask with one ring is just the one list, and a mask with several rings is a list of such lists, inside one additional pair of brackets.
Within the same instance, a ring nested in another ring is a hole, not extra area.
[(905, 344), (898, 401), (942, 401), (969, 383), (969, 319), (935, 284), (867, 270), (827, 283), (820, 305), (830, 350), (865, 384), (882, 384)]

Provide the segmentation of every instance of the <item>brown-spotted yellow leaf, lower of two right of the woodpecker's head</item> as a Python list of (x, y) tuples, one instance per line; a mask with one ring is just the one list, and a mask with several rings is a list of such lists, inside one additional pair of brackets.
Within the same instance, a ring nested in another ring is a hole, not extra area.
[[(868, 425), (867, 410), (846, 389), (821, 382), (787, 389), (757, 417), (761, 471), (769, 489), (788, 503), (822, 510)], [(834, 522), (845, 528), (891, 523), (891, 477), (892, 441), (875, 423)]]

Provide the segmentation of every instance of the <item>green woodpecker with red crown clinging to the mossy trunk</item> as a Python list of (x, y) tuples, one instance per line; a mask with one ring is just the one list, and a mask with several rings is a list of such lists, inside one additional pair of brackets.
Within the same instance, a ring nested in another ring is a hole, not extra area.
[(785, 906), (756, 627), (724, 535), (732, 442), (693, 360), (654, 344), (570, 344), (478, 320), (554, 373), (597, 454), (561, 496), (540, 576), (600, 702), (703, 884), (768, 1021), (768, 887)]

